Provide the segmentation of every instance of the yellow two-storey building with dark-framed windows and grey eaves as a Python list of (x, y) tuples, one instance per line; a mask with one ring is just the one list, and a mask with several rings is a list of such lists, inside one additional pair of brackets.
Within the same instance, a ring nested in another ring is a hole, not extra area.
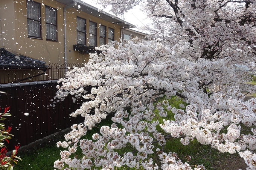
[(81, 0), (0, 0), (0, 21), (0, 47), (45, 65), (86, 63), (94, 47), (135, 27)]

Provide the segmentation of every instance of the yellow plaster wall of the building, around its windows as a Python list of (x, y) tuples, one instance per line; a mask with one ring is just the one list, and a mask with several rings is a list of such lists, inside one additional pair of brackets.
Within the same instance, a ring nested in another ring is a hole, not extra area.
[[(34, 0), (41, 3), (41, 34), (42, 39), (28, 38), (27, 35), (27, 10), (26, 0), (0, 0), (0, 19), (2, 35), (0, 43), (2, 47), (11, 49), (17, 53), (42, 60), (49, 63), (64, 63), (64, 4), (54, 0)], [(57, 9), (57, 40), (46, 41), (46, 26), (45, 26), (45, 5)], [(80, 54), (73, 50), (73, 45), (76, 45), (76, 16), (86, 19), (86, 38), (88, 38), (89, 21), (102, 24), (114, 29), (114, 39), (120, 38), (120, 26), (109, 23), (100, 18), (86, 14), (85, 12), (68, 8), (66, 13), (67, 20), (67, 63), (85, 63), (88, 61), (88, 54)], [(88, 44), (87, 44), (88, 45)], [(97, 29), (97, 46), (99, 46), (99, 28)]]

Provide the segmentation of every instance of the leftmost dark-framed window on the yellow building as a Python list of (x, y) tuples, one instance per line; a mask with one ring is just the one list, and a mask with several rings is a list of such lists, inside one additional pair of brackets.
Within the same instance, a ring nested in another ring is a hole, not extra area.
[(40, 3), (27, 1), (27, 34), (32, 38), (41, 38)]

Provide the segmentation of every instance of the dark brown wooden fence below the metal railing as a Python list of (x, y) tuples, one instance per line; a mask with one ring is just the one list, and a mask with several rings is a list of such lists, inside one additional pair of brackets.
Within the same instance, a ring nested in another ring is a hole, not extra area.
[[(56, 103), (55, 107), (47, 107), (52, 102), (57, 83), (36, 84), (29, 86), (0, 88), (0, 107), (10, 106), (11, 117), (6, 117), (3, 123), (12, 126), (11, 134), (14, 135), (7, 144), (9, 149), (14, 145), (27, 145), (40, 138), (69, 128), (74, 123), (81, 123), (82, 117), (73, 118), (69, 114), (79, 108), (82, 99), (73, 103), (72, 96), (68, 96), (64, 101)], [(25, 116), (24, 113), (29, 113)]]

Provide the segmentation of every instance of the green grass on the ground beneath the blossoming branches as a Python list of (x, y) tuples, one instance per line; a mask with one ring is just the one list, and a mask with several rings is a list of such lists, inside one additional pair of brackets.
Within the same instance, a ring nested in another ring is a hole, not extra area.
[[(160, 102), (163, 101), (164, 98), (161, 99)], [(169, 103), (171, 104), (172, 107), (175, 108), (180, 108), (180, 103), (184, 104), (186, 107), (186, 103), (180, 100), (179, 98), (171, 98), (168, 99)], [(180, 109), (185, 109), (185, 108), (180, 108)], [(171, 111), (168, 111), (168, 116), (167, 117), (161, 117), (158, 114), (158, 110), (154, 110), (155, 117), (152, 121), (158, 120), (160, 123), (163, 122), (163, 119), (169, 119), (169, 120), (174, 120), (174, 114)], [(87, 135), (85, 135), (84, 139), (87, 140), (92, 140), (92, 135), (94, 133), (99, 133), (99, 128), (101, 126), (107, 125), (111, 126), (112, 124), (111, 116), (108, 116), (106, 119), (102, 120), (101, 123), (97, 125), (97, 127), (94, 127), (91, 131), (87, 132)], [(122, 125), (118, 125), (119, 128), (122, 127)], [(160, 126), (158, 125), (157, 130), (160, 130)], [(152, 135), (152, 134), (151, 134)], [(157, 143), (155, 143), (155, 147), (160, 147)], [(46, 146), (42, 149), (37, 150), (35, 154), (30, 154), (30, 155), (23, 155), (21, 158), (23, 159), (21, 162), (18, 162), (18, 165), (15, 166), (15, 170), (53, 170), (53, 164), (54, 161), (57, 159), (60, 159), (60, 151), (64, 150), (63, 148), (57, 148), (56, 144), (52, 146)], [(133, 150), (133, 149), (132, 149)], [(127, 146), (126, 148), (123, 148), (122, 150), (116, 150), (119, 153), (125, 153), (128, 151), (131, 151), (131, 147)], [(241, 164), (241, 167), (244, 169), (246, 165), (244, 165), (243, 160), (239, 158), (238, 154), (234, 154), (230, 156), (227, 153), (219, 153), (218, 150), (216, 149), (210, 149), (210, 146), (207, 145), (202, 145), (200, 144), (197, 140), (193, 140), (190, 142), (189, 145), (184, 146), (183, 144), (180, 143), (180, 139), (178, 138), (171, 138), (167, 140), (166, 145), (164, 147), (164, 152), (175, 152), (178, 154), (178, 158), (180, 158), (183, 162), (188, 162), (190, 165), (199, 165), (203, 164), (207, 170), (221, 170), (226, 168), (226, 164), (230, 164), (230, 161), (235, 160), (238, 162), (240, 160), (239, 164)], [(211, 152), (211, 154), (209, 154)], [(135, 152), (136, 153), (136, 152)], [(78, 155), (79, 158), (82, 157), (82, 150), (79, 149), (75, 154), (72, 154), (70, 158), (73, 158), (75, 155)], [(191, 156), (191, 161), (188, 161), (187, 155)], [(157, 163), (158, 165), (160, 164), (160, 161), (158, 160), (157, 156), (155, 154), (151, 155), (152, 159), (154, 160), (154, 163)], [(232, 158), (232, 159), (230, 159)], [(237, 163), (235, 164), (237, 166)], [(94, 168), (94, 167), (93, 167)], [(96, 168), (96, 167), (95, 167)], [(232, 167), (236, 168), (236, 167)], [(232, 169), (230, 168), (230, 169)], [(100, 169), (100, 168), (99, 168)], [(115, 168), (116, 170), (123, 170), (124, 167), (121, 168)], [(143, 168), (140, 167), (140, 170)], [(227, 168), (226, 168), (227, 169)], [(237, 169), (237, 168), (236, 168)], [(131, 170), (135, 170), (132, 169)]]

